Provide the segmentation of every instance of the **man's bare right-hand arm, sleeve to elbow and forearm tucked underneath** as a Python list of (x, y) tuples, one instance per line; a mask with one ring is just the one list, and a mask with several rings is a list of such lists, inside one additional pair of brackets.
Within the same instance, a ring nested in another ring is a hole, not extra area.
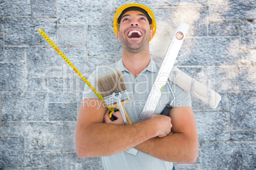
[(174, 107), (169, 112), (173, 134), (152, 138), (135, 148), (158, 159), (192, 164), (197, 159), (196, 119), (191, 107)]

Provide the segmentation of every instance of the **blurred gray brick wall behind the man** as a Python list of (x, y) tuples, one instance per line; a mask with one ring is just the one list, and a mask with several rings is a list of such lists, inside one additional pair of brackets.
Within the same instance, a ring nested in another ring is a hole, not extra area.
[[(112, 29), (124, 0), (0, 0), (0, 169), (102, 169), (79, 159), (76, 114), (82, 80), (39, 35), (41, 27), (85, 77), (117, 62)], [(138, 0), (152, 8), (158, 63), (179, 21), (190, 25), (175, 65), (222, 96), (212, 109), (192, 97), (199, 153), (177, 169), (256, 168), (254, 0)]]

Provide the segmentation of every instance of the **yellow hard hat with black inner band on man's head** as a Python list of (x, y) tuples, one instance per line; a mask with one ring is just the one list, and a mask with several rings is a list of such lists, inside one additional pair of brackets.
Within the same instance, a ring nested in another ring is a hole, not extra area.
[(113, 21), (113, 29), (116, 36), (119, 30), (120, 19), (122, 18), (122, 15), (124, 15), (124, 13), (126, 13), (127, 11), (141, 11), (142, 13), (145, 13), (148, 21), (150, 22), (151, 29), (153, 30), (153, 36), (155, 36), (155, 32), (157, 31), (157, 23), (155, 22), (155, 15), (153, 15), (153, 11), (145, 5), (137, 3), (125, 4), (117, 9)]

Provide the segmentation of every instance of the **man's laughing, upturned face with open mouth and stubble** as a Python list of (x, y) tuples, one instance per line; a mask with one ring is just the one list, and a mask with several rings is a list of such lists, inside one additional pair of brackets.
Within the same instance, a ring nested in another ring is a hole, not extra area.
[(118, 40), (123, 48), (139, 50), (153, 38), (153, 30), (146, 16), (140, 11), (128, 11), (120, 20)]

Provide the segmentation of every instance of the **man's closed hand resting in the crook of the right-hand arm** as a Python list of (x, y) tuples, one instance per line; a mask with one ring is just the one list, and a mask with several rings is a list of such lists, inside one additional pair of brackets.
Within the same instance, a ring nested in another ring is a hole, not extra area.
[(157, 136), (159, 138), (163, 138), (171, 133), (171, 128), (173, 127), (173, 124), (171, 124), (171, 117), (153, 114), (151, 120), (157, 121), (157, 126), (155, 128), (158, 130)]

